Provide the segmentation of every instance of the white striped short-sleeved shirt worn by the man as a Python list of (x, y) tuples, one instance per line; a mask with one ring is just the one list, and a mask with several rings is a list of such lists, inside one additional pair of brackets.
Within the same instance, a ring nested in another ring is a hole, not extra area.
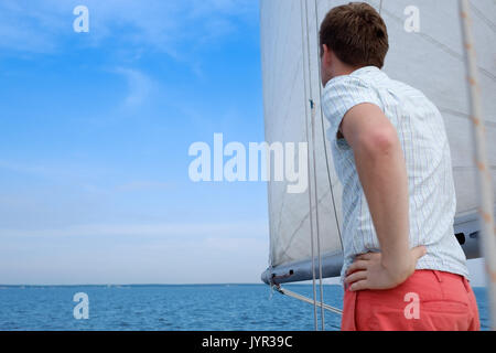
[(337, 132), (354, 106), (377, 105), (395, 126), (407, 162), (410, 196), (410, 246), (424, 245), (428, 254), (417, 269), (433, 269), (468, 276), (465, 254), (454, 236), (456, 196), (451, 152), (439, 109), (418, 89), (390, 79), (375, 66), (327, 83), (323, 110), (331, 122), (328, 139), (334, 165), (343, 184), (342, 280), (359, 254), (380, 252), (354, 152)]

